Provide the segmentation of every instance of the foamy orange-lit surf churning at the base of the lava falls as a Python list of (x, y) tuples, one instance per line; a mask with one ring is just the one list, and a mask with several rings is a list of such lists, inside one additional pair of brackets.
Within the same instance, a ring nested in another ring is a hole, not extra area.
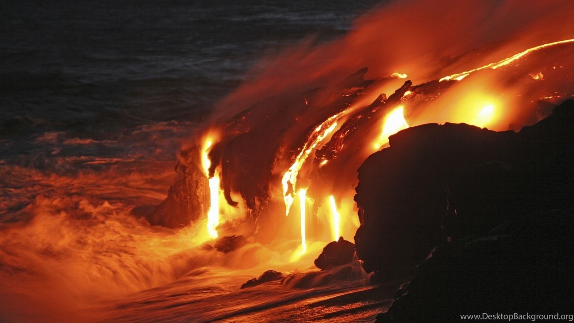
[[(331, 313), (370, 320), (385, 306), (340, 298), (372, 293), (371, 286), (358, 262), (323, 272), (313, 265), (327, 241), (308, 241), (304, 254), (299, 240), (251, 241), (222, 253), (203, 248), (213, 243), (204, 238), (205, 221), (176, 230), (150, 226), (137, 209), (165, 197), (161, 183), (172, 179), (169, 166), (73, 176), (4, 166), (3, 181), (13, 198), (3, 206), (28, 205), (14, 214), (20, 220), (1, 228), (1, 316), (8, 321), (273, 321), (326, 320), (323, 316)], [(240, 289), (270, 269), (294, 276), (283, 284)]]

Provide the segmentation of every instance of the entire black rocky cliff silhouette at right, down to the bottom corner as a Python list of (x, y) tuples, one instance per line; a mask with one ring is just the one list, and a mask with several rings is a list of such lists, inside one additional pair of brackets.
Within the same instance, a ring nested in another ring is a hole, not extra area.
[[(574, 274), (565, 247), (574, 240), (573, 139), (572, 100), (518, 133), (427, 124), (391, 136), (390, 148), (358, 171), (356, 251), (382, 280), (415, 268), (416, 276), (379, 320), (565, 310)], [(560, 286), (568, 293), (555, 293)]]

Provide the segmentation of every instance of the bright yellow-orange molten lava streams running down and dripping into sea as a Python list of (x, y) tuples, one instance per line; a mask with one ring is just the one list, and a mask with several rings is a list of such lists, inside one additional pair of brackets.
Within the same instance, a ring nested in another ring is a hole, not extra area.
[[(420, 116), (424, 116), (424, 111), (432, 110), (431, 107), (433, 107), (433, 105), (436, 106), (437, 104), (439, 104), (435, 102), (440, 102), (439, 99), (441, 99), (443, 95), (449, 94), (451, 92), (456, 92), (456, 90), (451, 90), (455, 88), (454, 85), (456, 84), (456, 81), (462, 82), (462, 80), (465, 79), (466, 76), (472, 74), (475, 71), (480, 70), (490, 69), (494, 71), (501, 67), (513, 66), (514, 68), (517, 68), (517, 71), (519, 71), (520, 64), (518, 63), (521, 61), (521, 59), (528, 57), (529, 54), (533, 54), (543, 49), (551, 49), (553, 47), (556, 47), (557, 45), (568, 45), (569, 43), (573, 42), (574, 39), (567, 39), (538, 45), (536, 47), (526, 49), (513, 56), (507, 57), (506, 59), (497, 61), (495, 63), (489, 63), (482, 67), (473, 68), (465, 72), (445, 76), (443, 78), (434, 80), (433, 82), (420, 84), (418, 86), (412, 86), (410, 85), (410, 81), (407, 81), (401, 87), (402, 89), (401, 91), (397, 91), (397, 93), (391, 95), (389, 99), (387, 99), (385, 95), (379, 95), (381, 98), (379, 98), (378, 100), (380, 101), (375, 100), (375, 102), (372, 103), (371, 106), (367, 106), (366, 103), (364, 102), (366, 102), (369, 96), (378, 95), (377, 91), (381, 90), (382, 86), (386, 86), (387, 83), (385, 82), (390, 82), (390, 80), (393, 79), (394, 80), (404, 79), (407, 77), (407, 75), (394, 72), (393, 75), (387, 77), (386, 79), (383, 78), (382, 80), (376, 82), (365, 81), (360, 76), (356, 80), (348, 80), (348, 81), (346, 80), (347, 83), (351, 82), (350, 85), (348, 86), (350, 87), (350, 89), (355, 89), (354, 91), (357, 91), (356, 89), (360, 89), (360, 87), (353, 85), (352, 82), (359, 82), (360, 84), (363, 84), (362, 86), (364, 86), (364, 88), (360, 90), (360, 92), (355, 92), (354, 94), (352, 94), (354, 96), (351, 96), (350, 98), (354, 98), (353, 99), (354, 101), (346, 103), (347, 104), (346, 108), (340, 109), (335, 114), (331, 114), (331, 116), (327, 117), (324, 121), (315, 123), (316, 126), (314, 126), (312, 130), (306, 135), (306, 140), (304, 144), (302, 144), (302, 147), (298, 149), (298, 153), (296, 154), (294, 159), (292, 161), (289, 161), (290, 166), (287, 168), (286, 171), (281, 173), (282, 175), (280, 179), (280, 187), (282, 190), (282, 202), (284, 203), (285, 206), (286, 216), (288, 216), (290, 213), (290, 209), (291, 206), (293, 205), (296, 195), (299, 199), (300, 216), (301, 216), (300, 220), (301, 246), (303, 251), (306, 248), (307, 237), (309, 236), (309, 233), (311, 232), (313, 236), (317, 235), (316, 233), (317, 228), (312, 228), (310, 230), (306, 226), (306, 219), (309, 216), (309, 214), (306, 213), (309, 212), (309, 209), (306, 209), (305, 201), (307, 201), (307, 198), (310, 198), (309, 194), (312, 194), (311, 197), (315, 199), (315, 201), (327, 201), (326, 209), (328, 210), (328, 214), (325, 214), (325, 217), (327, 219), (326, 221), (328, 222), (328, 226), (330, 227), (329, 229), (329, 231), (331, 232), (330, 236), (333, 239), (338, 239), (340, 230), (343, 228), (341, 225), (342, 215), (340, 214), (340, 210), (338, 210), (336, 206), (335, 198), (333, 197), (333, 195), (330, 195), (326, 191), (325, 193), (328, 195), (325, 195), (324, 197), (315, 195), (315, 194), (323, 194), (318, 193), (323, 190), (321, 188), (320, 182), (316, 182), (316, 180), (313, 180), (313, 178), (311, 178), (306, 180), (304, 187), (300, 187), (297, 184), (302, 167), (304, 167), (305, 165), (308, 164), (308, 162), (310, 163), (314, 159), (317, 149), (320, 147), (322, 143), (324, 143), (324, 141), (327, 141), (327, 143), (324, 145), (325, 147), (337, 147), (336, 151), (328, 152), (327, 155), (331, 154), (329, 155), (331, 156), (329, 157), (329, 159), (323, 156), (325, 152), (321, 152), (322, 157), (320, 157), (319, 161), (313, 164), (312, 167), (316, 168), (316, 171), (321, 170), (319, 174), (321, 174), (320, 176), (323, 178), (322, 182), (327, 183), (330, 181), (330, 183), (332, 184), (343, 184), (343, 183), (336, 183), (333, 180), (334, 177), (331, 177), (333, 179), (329, 179), (328, 177), (328, 176), (337, 176), (337, 174), (341, 174), (342, 172), (354, 172), (353, 169), (347, 170), (344, 164), (340, 164), (342, 162), (340, 160), (355, 159), (358, 160), (358, 162), (360, 163), (361, 160), (363, 160), (366, 156), (368, 156), (365, 155), (364, 152), (361, 152), (360, 150), (356, 149), (360, 147), (360, 145), (363, 146), (366, 145), (369, 147), (372, 146), (372, 148), (364, 149), (364, 151), (367, 152), (367, 154), (370, 154), (374, 151), (386, 147), (389, 144), (389, 136), (399, 132), (402, 129), (409, 128), (409, 125), (412, 125), (411, 122), (408, 121), (408, 118), (411, 118), (413, 120), (412, 122), (414, 123), (414, 125), (425, 122), (433, 122), (434, 120), (432, 117), (430, 118), (425, 117), (424, 120), (417, 120), (417, 117), (421, 118)], [(504, 74), (497, 74), (497, 75), (505, 76)], [(530, 76), (530, 74), (528, 75), (533, 80), (538, 81), (542, 80), (541, 76), (542, 72), (537, 72), (536, 77)], [(450, 83), (448, 81), (450, 81)], [(373, 85), (370, 85), (371, 83), (373, 83)], [(348, 91), (349, 90), (344, 90), (343, 95), (348, 97), (349, 95)], [(476, 97), (476, 93), (469, 93), (469, 94), (474, 95), (472, 96), (472, 98)], [(465, 95), (466, 94), (464, 93), (457, 94), (458, 97), (465, 97)], [(488, 102), (488, 99), (485, 100), (486, 100), (485, 102), (487, 103), (484, 103), (482, 107), (472, 109), (463, 109), (461, 107), (461, 109), (455, 111), (458, 111), (457, 113), (459, 114), (460, 113), (464, 114), (462, 121), (467, 122), (468, 124), (476, 125), (479, 127), (492, 125), (492, 122), (494, 122), (495, 106), (499, 106), (498, 104), (499, 102), (497, 101), (497, 104), (494, 104)], [(309, 101), (307, 98), (305, 98), (304, 102), (307, 109), (312, 109), (311, 105), (309, 105)], [(481, 101), (478, 100), (477, 102)], [(473, 115), (472, 110), (474, 109), (478, 109), (478, 113), (475, 112)], [(465, 112), (464, 110), (468, 111)], [(355, 114), (352, 115), (349, 118), (349, 120), (344, 121), (345, 119), (344, 117), (350, 114), (351, 111), (359, 111), (359, 112), (358, 113), (354, 112)], [(379, 113), (381, 111), (382, 113)], [(501, 115), (502, 114), (500, 114), (497, 118), (500, 118)], [(243, 114), (241, 117), (241, 121), (244, 122), (247, 116), (249, 116), (249, 113)], [(346, 122), (351, 122), (351, 124), (347, 125)], [(234, 124), (233, 121), (227, 123)], [(369, 130), (370, 128), (374, 128), (377, 126), (381, 127), (379, 128), (380, 129), (379, 131), (377, 131), (376, 129)], [(344, 132), (341, 132), (340, 134), (338, 133), (336, 138), (333, 137), (333, 139), (330, 139), (337, 141), (336, 145), (331, 146), (329, 145), (327, 139), (338, 127), (341, 128), (342, 130), (344, 129)], [(249, 132), (249, 130), (247, 131)], [(210, 152), (213, 143), (211, 137), (209, 138), (210, 139), (204, 141), (202, 148), (203, 151), (201, 153), (201, 164), (206, 174), (208, 174), (210, 166), (213, 166), (212, 161), (210, 161), (210, 158), (208, 156), (208, 153)], [(357, 146), (357, 144), (360, 141), (362, 141), (362, 144), (359, 144), (359, 146)], [(350, 144), (350, 146), (347, 148), (346, 146), (347, 142), (349, 143), (352, 142), (354, 144)], [(345, 146), (346, 148), (343, 149), (343, 146)], [(331, 159), (335, 159), (332, 161), (333, 164), (329, 162), (331, 161)], [(343, 168), (333, 170), (334, 167), (343, 167)], [(308, 171), (305, 171), (305, 174), (308, 173), (309, 173)], [(217, 232), (215, 228), (220, 221), (219, 210), (218, 210), (219, 184), (220, 184), (220, 178), (218, 174), (215, 173), (214, 176), (212, 176), (209, 179), (211, 206), (207, 214), (207, 220), (208, 220), (208, 233), (211, 237), (217, 237)], [(352, 186), (354, 183), (349, 182), (344, 184)], [(269, 195), (271, 195), (271, 198), (273, 198), (273, 194)]]

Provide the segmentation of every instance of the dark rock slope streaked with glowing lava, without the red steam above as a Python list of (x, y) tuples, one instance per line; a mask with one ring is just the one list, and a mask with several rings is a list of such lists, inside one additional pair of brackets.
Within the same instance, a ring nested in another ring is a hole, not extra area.
[[(492, 129), (505, 130), (505, 126), (512, 124), (514, 128), (528, 124), (525, 114), (532, 116), (532, 112), (521, 111), (513, 113), (515, 106), (526, 105), (534, 102), (533, 93), (538, 93), (540, 99), (549, 98), (553, 84), (557, 84), (568, 73), (554, 74), (555, 82), (549, 81), (548, 77), (542, 79), (542, 72), (537, 72), (536, 76), (531, 76), (530, 71), (536, 69), (545, 70), (548, 75), (545, 57), (563, 56), (563, 48), (572, 46), (574, 39), (552, 41), (550, 43), (536, 45), (532, 48), (508, 56), (505, 59), (497, 60), (494, 63), (484, 64), (481, 67), (455, 73), (441, 78), (427, 80), (426, 83), (413, 85), (406, 81), (388, 98), (379, 91), (387, 89), (393, 80), (405, 79), (406, 74), (394, 72), (390, 76), (367, 80), (364, 78), (366, 69), (360, 70), (332, 87), (308, 92), (300, 98), (304, 105), (297, 106), (297, 98), (293, 98), (293, 111), (285, 110), (278, 119), (267, 122), (276, 122), (278, 128), (289, 128), (289, 131), (275, 134), (269, 133), (269, 139), (273, 142), (258, 147), (256, 141), (251, 141), (259, 136), (258, 132), (251, 132), (249, 128), (256, 128), (253, 122), (258, 122), (264, 110), (258, 110), (257, 105), (240, 113), (238, 116), (227, 120), (227, 126), (217, 126), (222, 133), (225, 143), (219, 145), (216, 153), (211, 153), (212, 141), (207, 140), (203, 144), (201, 152), (201, 164), (205, 174), (208, 176), (210, 190), (210, 208), (207, 214), (207, 230), (211, 238), (218, 236), (216, 226), (219, 225), (219, 190), (220, 179), (214, 173), (210, 178), (210, 169), (215, 170), (222, 158), (227, 155), (227, 151), (238, 151), (246, 149), (256, 154), (259, 149), (271, 149), (265, 151), (264, 156), (270, 156), (266, 164), (261, 164), (257, 172), (261, 175), (249, 174), (247, 164), (242, 159), (234, 161), (226, 160), (226, 163), (233, 163), (235, 170), (242, 176), (243, 182), (238, 182), (235, 174), (229, 171), (223, 173), (223, 182), (227, 183), (223, 189), (223, 194), (234, 194), (246, 199), (248, 214), (243, 218), (249, 218), (254, 233), (263, 233), (271, 230), (274, 234), (285, 237), (293, 237), (293, 226), (299, 227), (301, 248), (307, 249), (308, 239), (326, 239), (331, 236), (337, 239), (339, 232), (351, 234), (356, 229), (356, 221), (350, 221), (354, 212), (352, 205), (337, 210), (335, 199), (348, 201), (352, 197), (351, 190), (342, 190), (342, 187), (352, 187), (356, 184), (354, 177), (355, 169), (360, 165), (370, 153), (389, 145), (389, 138), (402, 129), (412, 125), (424, 124), (428, 122), (466, 122), (479, 127), (490, 126)], [(556, 50), (554, 50), (556, 49)], [(531, 59), (537, 53), (542, 56)], [(494, 54), (491, 54), (494, 56)], [(488, 56), (488, 55), (486, 55)], [(482, 57), (484, 59), (484, 57)], [(462, 60), (462, 59), (461, 59)], [(457, 62), (458, 63), (458, 62)], [(459, 63), (460, 64), (460, 63)], [(564, 62), (565, 64), (565, 62)], [(490, 70), (490, 73), (487, 71)], [(556, 70), (556, 68), (553, 68)], [(477, 74), (476, 77), (468, 77)], [(522, 75), (522, 76), (521, 76)], [(537, 81), (529, 82), (525, 78)], [(506, 78), (520, 78), (521, 82), (507, 82), (506, 86), (492, 87), (492, 84), (502, 84)], [(492, 82), (496, 80), (496, 82)], [(544, 82), (542, 82), (544, 81)], [(468, 91), (467, 86), (474, 90)], [(395, 86), (398, 86), (395, 85)], [(505, 94), (520, 93), (528, 91), (528, 95), (514, 95), (513, 101), (509, 101)], [(339, 98), (336, 95), (340, 95)], [(564, 93), (564, 95), (571, 95)], [(374, 99), (376, 97), (376, 99)], [(374, 99), (374, 101), (372, 101)], [(367, 101), (368, 100), (368, 101)], [(449, 102), (447, 103), (448, 100)], [(369, 102), (372, 101), (373, 103)], [(440, 109), (447, 105), (446, 109)], [(530, 104), (530, 111), (537, 109), (537, 104)], [(495, 109), (498, 111), (497, 118), (494, 118)], [(331, 111), (331, 112), (329, 112)], [(473, 112), (475, 111), (475, 112)], [(289, 117), (290, 116), (290, 117)], [(324, 117), (321, 120), (321, 116)], [(269, 118), (265, 116), (263, 118)], [(289, 121), (292, 118), (293, 121)], [(506, 123), (505, 123), (506, 122)], [(282, 125), (285, 124), (285, 125)], [(380, 132), (377, 127), (381, 127)], [(210, 129), (214, 125), (210, 126)], [(240, 129), (247, 130), (240, 130)], [(285, 128), (285, 129), (287, 129)], [(210, 130), (211, 131), (211, 130)], [(298, 133), (295, 133), (298, 131)], [(253, 135), (251, 135), (253, 133)], [(254, 136), (257, 134), (257, 136)], [(261, 133), (265, 136), (265, 133)], [(247, 136), (249, 135), (249, 136)], [(247, 136), (247, 137), (246, 137)], [(206, 136), (200, 136), (206, 137)], [(236, 139), (234, 139), (236, 137)], [(302, 140), (299, 148), (294, 149), (294, 157), (289, 149), (294, 143)], [(241, 140), (239, 140), (241, 138)], [(263, 138), (263, 137), (262, 137)], [(262, 142), (267, 142), (263, 139)], [(237, 146), (241, 143), (241, 146)], [(286, 143), (286, 144), (285, 144)], [(369, 147), (372, 143), (372, 148)], [(215, 148), (213, 148), (215, 149)], [(223, 150), (222, 150), (223, 149)], [(320, 155), (319, 155), (320, 153)], [(218, 157), (219, 156), (219, 157)], [(230, 156), (230, 155), (229, 155)], [(319, 157), (321, 156), (321, 157)], [(215, 157), (215, 159), (213, 159)], [(235, 156), (234, 156), (235, 157)], [(318, 161), (314, 161), (318, 160)], [(223, 164), (224, 170), (226, 163)], [(284, 166), (287, 164), (288, 166)], [(249, 166), (251, 167), (251, 166)], [(229, 175), (226, 175), (229, 174)], [(274, 180), (277, 182), (274, 182)], [(247, 180), (246, 183), (245, 180)], [(260, 182), (263, 180), (264, 182)], [(303, 184), (299, 184), (299, 182)], [(253, 183), (251, 183), (253, 182)], [(249, 184), (249, 185), (248, 185)], [(255, 185), (257, 191), (247, 189), (248, 186)], [(267, 187), (267, 189), (262, 189)], [(277, 189), (282, 192), (277, 195)], [(231, 190), (231, 191), (230, 191)], [(349, 195), (347, 195), (349, 194)], [(282, 223), (275, 228), (265, 228), (270, 222), (263, 218), (273, 218), (280, 212), (281, 207), (272, 201), (282, 200), (283, 210), (286, 216), (289, 215), (294, 199), (298, 195), (300, 203), (300, 221), (273, 220), (273, 223)], [(249, 203), (249, 199), (257, 201)], [(312, 208), (307, 207), (306, 201), (314, 201)], [(328, 201), (323, 207), (323, 201)], [(167, 215), (166, 215), (167, 216)], [(316, 220), (313, 220), (316, 219)], [(343, 219), (345, 219), (343, 221)], [(232, 219), (227, 219), (231, 221)], [(278, 222), (277, 222), (278, 221)], [(345, 227), (342, 227), (342, 223)], [(331, 233), (330, 235), (328, 233)]]

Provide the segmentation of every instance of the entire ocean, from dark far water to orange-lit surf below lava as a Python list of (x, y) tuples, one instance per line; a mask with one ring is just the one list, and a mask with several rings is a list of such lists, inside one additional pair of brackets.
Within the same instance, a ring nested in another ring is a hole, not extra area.
[[(166, 197), (186, 140), (261, 59), (338, 37), (375, 4), (3, 2), (0, 321), (372, 320), (389, 304), (360, 267), (312, 266), (326, 241), (295, 259), (298, 241), (222, 254), (196, 239), (204, 223), (142, 216)], [(268, 269), (294, 273), (293, 286), (239, 289)]]

